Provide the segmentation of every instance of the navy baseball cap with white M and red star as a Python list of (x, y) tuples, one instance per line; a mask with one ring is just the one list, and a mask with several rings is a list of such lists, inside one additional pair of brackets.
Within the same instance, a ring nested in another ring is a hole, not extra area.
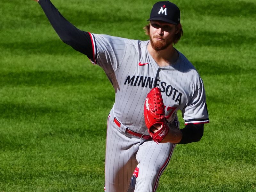
[(180, 9), (169, 1), (159, 1), (153, 5), (148, 21), (150, 20), (159, 20), (177, 25), (180, 23)]

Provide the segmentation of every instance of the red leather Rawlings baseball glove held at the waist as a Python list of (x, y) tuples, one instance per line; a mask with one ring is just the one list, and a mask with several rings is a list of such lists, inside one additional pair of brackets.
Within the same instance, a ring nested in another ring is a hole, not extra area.
[[(168, 134), (169, 126), (166, 124), (164, 102), (158, 87), (153, 88), (146, 97), (144, 119), (150, 136), (155, 142), (160, 143)], [(154, 132), (155, 126), (161, 128)]]

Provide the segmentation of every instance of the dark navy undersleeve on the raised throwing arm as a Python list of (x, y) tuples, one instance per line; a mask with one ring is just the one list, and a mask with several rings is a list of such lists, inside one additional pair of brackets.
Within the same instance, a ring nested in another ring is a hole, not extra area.
[(39, 0), (38, 3), (60, 39), (89, 59), (93, 59), (92, 40), (88, 32), (81, 31), (66, 20), (50, 0)]

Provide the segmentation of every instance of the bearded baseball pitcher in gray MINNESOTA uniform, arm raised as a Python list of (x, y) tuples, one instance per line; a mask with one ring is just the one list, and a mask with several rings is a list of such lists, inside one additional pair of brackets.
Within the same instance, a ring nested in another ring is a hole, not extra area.
[[(169, 1), (154, 4), (145, 27), (149, 40), (140, 41), (81, 31), (50, 0), (38, 3), (61, 40), (99, 65), (115, 89), (107, 121), (106, 191), (126, 192), (138, 163), (134, 191), (156, 191), (175, 145), (199, 141), (204, 124), (209, 123), (203, 81), (173, 47), (183, 33), (179, 8)], [(155, 88), (162, 95), (156, 105), (164, 106), (164, 123), (149, 129), (143, 108)], [(185, 120), (183, 129), (179, 129), (178, 110)], [(154, 138), (154, 133), (161, 139)]]

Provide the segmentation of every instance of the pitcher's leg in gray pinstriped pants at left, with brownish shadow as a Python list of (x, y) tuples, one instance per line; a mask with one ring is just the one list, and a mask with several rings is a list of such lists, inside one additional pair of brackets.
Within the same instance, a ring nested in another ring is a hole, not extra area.
[(108, 118), (105, 182), (107, 192), (124, 192), (129, 188), (132, 172), (138, 162), (135, 153), (140, 139), (129, 138), (119, 131), (113, 118)]

